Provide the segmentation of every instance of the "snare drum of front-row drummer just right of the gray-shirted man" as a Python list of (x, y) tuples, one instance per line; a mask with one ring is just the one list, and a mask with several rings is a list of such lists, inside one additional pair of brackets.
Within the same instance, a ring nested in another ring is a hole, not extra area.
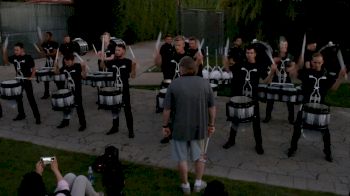
[(254, 102), (247, 96), (233, 96), (226, 103), (228, 120), (238, 120), (239, 123), (250, 122), (254, 116)]

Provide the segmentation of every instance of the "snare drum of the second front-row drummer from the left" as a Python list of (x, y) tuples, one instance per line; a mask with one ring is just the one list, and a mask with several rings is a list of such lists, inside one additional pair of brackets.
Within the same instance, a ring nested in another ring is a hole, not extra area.
[(74, 107), (74, 96), (69, 89), (60, 89), (52, 93), (51, 96), (52, 109), (62, 111), (67, 108)]

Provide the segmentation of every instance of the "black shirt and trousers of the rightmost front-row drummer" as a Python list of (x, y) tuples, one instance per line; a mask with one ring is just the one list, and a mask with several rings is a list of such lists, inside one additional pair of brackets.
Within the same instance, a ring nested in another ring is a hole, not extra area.
[[(320, 78), (322, 76), (325, 76), (326, 79), (319, 80), (319, 93), (320, 93), (320, 103), (324, 104), (325, 97), (327, 95), (328, 90), (332, 87), (332, 85), (336, 81), (336, 76), (334, 74), (330, 74), (322, 68), (321, 71), (316, 71), (313, 69), (302, 69), (299, 70), (298, 78), (302, 81), (302, 93), (303, 93), (303, 103), (310, 102), (310, 96), (314, 91), (314, 84), (315, 79), (309, 78), (309, 76), (313, 76), (316, 78)], [(294, 132), (293, 137), (291, 141), (291, 146), (288, 151), (288, 156), (292, 156), (294, 152), (297, 150), (298, 147), (298, 140), (301, 135), (301, 129), (303, 126), (303, 119), (302, 119), (302, 111), (298, 112), (297, 119), (294, 123)], [(310, 128), (310, 127), (309, 127)], [(311, 127), (312, 128), (312, 127)], [(326, 159), (328, 161), (332, 161), (331, 158), (331, 139), (330, 139), (330, 133), (328, 126), (325, 127), (323, 130), (323, 142), (324, 142), (324, 149), (323, 152), (326, 154)]]

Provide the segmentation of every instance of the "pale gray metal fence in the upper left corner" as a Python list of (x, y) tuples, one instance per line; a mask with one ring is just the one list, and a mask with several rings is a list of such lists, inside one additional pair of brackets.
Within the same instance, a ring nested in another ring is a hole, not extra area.
[[(68, 32), (67, 20), (73, 14), (74, 9), (70, 5), (0, 1), (0, 42), (8, 36), (9, 55), (16, 42), (23, 42), (26, 52), (38, 58), (39, 54), (33, 46), (33, 43), (39, 43), (37, 27), (41, 28), (42, 33), (52, 32), (54, 40), (61, 43)], [(2, 57), (0, 65), (1, 61)]]

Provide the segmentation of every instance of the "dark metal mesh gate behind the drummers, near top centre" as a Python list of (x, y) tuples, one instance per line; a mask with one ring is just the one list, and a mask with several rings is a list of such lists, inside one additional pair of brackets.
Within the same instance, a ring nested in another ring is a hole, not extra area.
[(209, 55), (223, 53), (224, 37), (224, 12), (183, 9), (181, 11), (181, 32), (185, 37), (196, 36), (204, 39), (204, 46), (208, 46)]

